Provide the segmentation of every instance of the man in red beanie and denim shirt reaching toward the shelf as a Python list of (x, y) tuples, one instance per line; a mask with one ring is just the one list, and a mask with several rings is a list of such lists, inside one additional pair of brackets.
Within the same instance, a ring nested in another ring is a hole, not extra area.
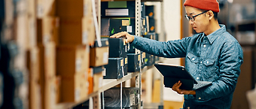
[(198, 33), (180, 40), (158, 42), (119, 32), (111, 38), (126, 37), (126, 42), (151, 55), (185, 58), (185, 67), (196, 80), (212, 81), (212, 85), (195, 91), (180, 89), (180, 81), (172, 87), (184, 94), (183, 108), (230, 108), (243, 62), (241, 45), (218, 24), (216, 0), (186, 0), (186, 19)]

